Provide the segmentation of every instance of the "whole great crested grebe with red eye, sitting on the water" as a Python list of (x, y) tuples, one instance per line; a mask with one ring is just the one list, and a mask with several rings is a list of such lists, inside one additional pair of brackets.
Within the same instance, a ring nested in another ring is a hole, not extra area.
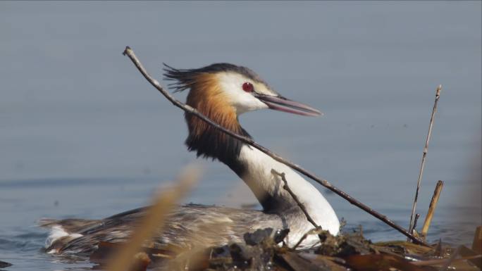
[[(302, 103), (290, 101), (276, 93), (249, 68), (216, 63), (204, 68), (178, 70), (166, 65), (164, 76), (174, 80), (175, 91), (189, 89), (187, 104), (233, 132), (249, 137), (241, 127), (238, 116), (248, 111), (271, 108), (298, 115), (316, 116), (321, 113)], [(283, 180), (271, 170), (284, 172), (288, 186), (307, 208), (311, 218), (331, 234), (338, 234), (340, 223), (330, 203), (307, 180), (288, 166), (277, 162), (252, 146), (214, 129), (199, 118), (186, 114), (189, 136), (185, 144), (197, 156), (217, 158), (233, 170), (252, 190), (263, 210), (242, 210), (218, 206), (178, 206), (168, 216), (163, 232), (156, 234), (154, 244), (220, 246), (230, 241), (242, 241), (243, 234), (256, 229), (289, 228), (285, 237), (294, 245), (303, 234), (313, 228), (288, 191)], [(103, 220), (44, 220), (51, 227), (46, 246), (49, 253), (88, 253), (100, 241), (122, 242), (130, 236), (135, 222), (145, 208), (130, 210)], [(202, 225), (206, 222), (223, 223), (223, 231)], [(299, 248), (314, 246), (318, 237), (305, 239)]]

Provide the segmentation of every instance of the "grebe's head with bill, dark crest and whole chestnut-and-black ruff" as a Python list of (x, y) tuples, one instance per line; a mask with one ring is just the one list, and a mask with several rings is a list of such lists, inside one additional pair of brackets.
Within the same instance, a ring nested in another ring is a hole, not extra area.
[[(298, 115), (321, 115), (320, 111), (302, 103), (290, 101), (275, 92), (249, 68), (216, 63), (204, 68), (178, 70), (164, 64), (166, 80), (176, 92), (189, 89), (186, 103), (219, 125), (249, 137), (237, 120), (238, 115), (271, 108)], [(240, 174), (235, 160), (242, 142), (216, 130), (199, 118), (185, 114), (189, 136), (185, 143), (197, 156), (218, 158)]]

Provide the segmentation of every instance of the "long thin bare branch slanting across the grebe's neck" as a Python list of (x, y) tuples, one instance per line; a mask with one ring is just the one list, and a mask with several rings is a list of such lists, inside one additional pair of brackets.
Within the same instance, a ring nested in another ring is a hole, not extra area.
[(174, 97), (171, 96), (171, 94), (166, 92), (166, 90), (163, 89), (163, 87), (161, 87), (161, 84), (159, 84), (159, 82), (157, 80), (155, 80), (153, 77), (151, 77), (151, 75), (149, 75), (149, 73), (147, 73), (147, 70), (144, 68), (142, 63), (140, 63), (139, 59), (137, 59), (137, 56), (135, 56), (134, 51), (132, 51), (132, 49), (130, 49), (129, 46), (125, 47), (123, 55), (128, 56), (130, 58), (130, 60), (132, 61), (132, 63), (134, 63), (134, 65), (140, 71), (142, 76), (144, 76), (144, 78), (146, 78), (146, 80), (149, 83), (151, 83), (159, 92), (161, 92), (161, 94), (163, 94), (163, 96), (165, 96), (166, 99), (171, 101), (171, 103), (173, 103), (174, 106), (177, 106), (178, 108), (181, 108), (183, 111), (185, 111), (187, 113), (191, 113), (192, 115), (197, 116), (197, 118), (203, 120), (204, 122), (206, 122), (209, 125), (215, 127), (216, 129), (221, 130), (222, 132), (225, 132), (225, 134), (229, 134), (231, 137), (234, 137), (235, 139), (239, 139), (240, 141), (245, 142), (246, 144), (249, 144), (256, 149), (259, 149), (259, 151), (262, 151), (262, 152), (266, 153), (268, 156), (271, 156), (271, 158), (273, 158), (274, 160), (277, 160), (280, 163), (288, 165), (290, 168), (292, 168), (294, 170), (297, 170), (298, 172), (302, 173), (303, 175), (305, 175), (305, 176), (307, 176), (311, 179), (314, 179), (314, 181), (323, 185), (323, 187), (326, 187), (327, 189), (330, 189), (331, 191), (335, 192), (335, 194), (338, 194), (338, 196), (341, 196), (342, 198), (345, 198), (345, 200), (352, 203), (354, 206), (357, 206), (357, 207), (361, 208), (362, 210), (365, 210), (366, 213), (369, 213), (369, 214), (373, 215), (375, 218), (378, 218), (379, 220), (385, 222), (390, 227), (393, 227), (394, 229), (397, 229), (398, 232), (401, 232), (406, 237), (409, 237), (416, 244), (423, 244), (425, 246), (428, 246), (428, 244), (426, 244), (426, 242), (424, 242), (423, 240), (421, 240), (417, 237), (414, 237), (414, 235), (411, 234), (410, 232), (408, 232), (407, 229), (404, 229), (400, 225), (395, 224), (395, 222), (393, 222), (393, 220), (388, 219), (385, 215), (382, 215), (381, 213), (378, 213), (376, 210), (373, 210), (369, 206), (366, 206), (364, 203), (361, 203), (356, 198), (353, 198), (352, 196), (346, 194), (344, 191), (338, 189), (337, 187), (334, 187), (333, 184), (330, 184), (330, 182), (328, 182), (326, 179), (321, 179), (320, 177), (317, 177), (316, 175), (314, 175), (314, 173), (311, 173), (308, 170), (305, 170), (301, 166), (299, 166), (295, 163), (292, 163), (289, 160), (287, 160), (287, 159), (285, 159), (281, 156), (278, 156), (278, 154), (273, 153), (272, 151), (266, 149), (264, 146), (261, 146), (261, 145), (257, 144), (253, 139), (250, 139), (248, 137), (243, 137), (239, 134), (231, 132), (230, 130), (226, 129), (225, 127), (222, 127), (221, 125), (218, 125), (213, 120), (207, 118), (202, 113), (199, 113), (199, 111), (197, 111), (195, 108), (192, 108), (191, 106), (188, 106), (187, 104), (181, 103), (180, 101), (174, 99)]

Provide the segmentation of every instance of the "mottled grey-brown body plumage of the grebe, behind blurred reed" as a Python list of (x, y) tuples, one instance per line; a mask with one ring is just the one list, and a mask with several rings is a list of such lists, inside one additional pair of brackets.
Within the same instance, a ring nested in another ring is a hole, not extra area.
[[(68, 235), (52, 240), (47, 251), (91, 253), (101, 241), (127, 241), (146, 209), (137, 208), (104, 220), (51, 220), (44, 226), (54, 230), (60, 226)], [(259, 210), (190, 204), (175, 208), (152, 241), (159, 246), (219, 246), (230, 241), (242, 241), (245, 232), (254, 232), (261, 227), (281, 228), (282, 223), (277, 215), (267, 215)]]

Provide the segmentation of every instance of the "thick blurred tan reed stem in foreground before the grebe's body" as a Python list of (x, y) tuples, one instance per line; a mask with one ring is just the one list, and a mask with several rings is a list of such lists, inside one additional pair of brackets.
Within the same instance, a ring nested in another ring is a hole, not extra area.
[(152, 206), (147, 210), (144, 218), (132, 233), (130, 240), (116, 251), (106, 265), (106, 270), (123, 271), (130, 270), (135, 253), (139, 252), (142, 244), (150, 239), (155, 232), (160, 232), (163, 227), (163, 218), (173, 209), (176, 203), (183, 198), (193, 186), (199, 176), (199, 170), (187, 168), (178, 177), (178, 184), (172, 189), (161, 191), (154, 199)]

